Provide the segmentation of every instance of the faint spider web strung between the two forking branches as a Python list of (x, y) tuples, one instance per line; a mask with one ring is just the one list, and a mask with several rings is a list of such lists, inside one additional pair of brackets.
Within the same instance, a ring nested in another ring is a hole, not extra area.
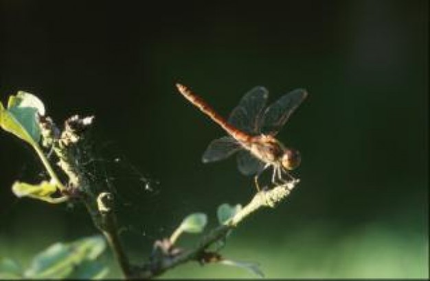
[(127, 251), (149, 252), (152, 243), (166, 233), (166, 221), (159, 219), (163, 210), (161, 184), (142, 172), (124, 154), (115, 140), (100, 141), (98, 132), (87, 134), (82, 149), (84, 175), (96, 194), (109, 191), (115, 199), (119, 234)]

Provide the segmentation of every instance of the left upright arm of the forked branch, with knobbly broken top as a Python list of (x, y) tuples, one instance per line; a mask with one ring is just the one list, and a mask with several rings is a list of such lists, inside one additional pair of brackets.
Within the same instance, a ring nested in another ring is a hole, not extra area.
[(132, 267), (124, 252), (124, 247), (117, 234), (118, 227), (113, 208), (111, 193), (100, 193), (95, 197), (95, 188), (82, 171), (80, 143), (87, 127), (92, 125), (93, 117), (80, 118), (78, 115), (65, 121), (65, 129), (60, 133), (52, 119), (41, 119), (45, 146), (54, 147), (58, 158), (58, 167), (67, 175), (67, 195), (78, 198), (87, 208), (95, 227), (106, 237), (124, 277), (133, 278)]

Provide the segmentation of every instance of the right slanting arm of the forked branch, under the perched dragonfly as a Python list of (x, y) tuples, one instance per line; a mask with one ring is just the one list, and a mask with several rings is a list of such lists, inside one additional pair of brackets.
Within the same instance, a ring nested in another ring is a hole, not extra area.
[[(240, 211), (236, 212), (234, 217), (232, 217), (227, 224), (220, 225), (218, 228), (214, 228), (208, 234), (203, 236), (199, 243), (197, 243), (194, 249), (189, 249), (187, 251), (181, 250), (173, 245), (169, 245), (166, 240), (157, 241), (155, 245), (159, 247), (163, 247), (163, 256), (158, 256), (155, 259), (150, 260), (150, 262), (141, 265), (136, 269), (137, 276), (139, 278), (154, 278), (156, 276), (161, 275), (163, 272), (168, 269), (172, 269), (177, 265), (181, 265), (182, 263), (188, 261), (197, 261), (201, 263), (207, 262), (217, 262), (220, 261), (221, 258), (217, 254), (212, 253), (212, 257), (215, 257), (214, 260), (206, 260), (207, 248), (210, 247), (213, 243), (217, 241), (222, 241), (225, 239), (230, 230), (234, 229), (238, 223), (247, 218), (251, 213), (263, 207), (271, 207), (275, 206), (275, 204), (279, 203), (291, 193), (291, 190), (295, 187), (295, 185), (299, 182), (299, 180), (293, 180), (286, 184), (282, 184), (280, 186), (275, 186), (275, 188), (269, 191), (260, 191), (257, 193), (253, 199)], [(161, 246), (160, 246), (161, 244)], [(179, 252), (179, 254), (172, 254), (174, 252)]]

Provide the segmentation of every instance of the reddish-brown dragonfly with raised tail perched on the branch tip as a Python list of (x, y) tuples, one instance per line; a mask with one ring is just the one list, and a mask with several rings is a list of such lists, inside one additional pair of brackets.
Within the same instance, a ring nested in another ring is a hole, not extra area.
[[(212, 140), (207, 146), (202, 156), (204, 163), (223, 160), (237, 154), (239, 171), (244, 175), (254, 175), (258, 191), (258, 177), (269, 167), (273, 168), (273, 184), (286, 184), (289, 180), (295, 180), (288, 171), (299, 166), (300, 153), (297, 149), (285, 147), (275, 136), (304, 101), (308, 95), (306, 90), (292, 90), (266, 106), (269, 92), (263, 86), (256, 86), (240, 99), (238, 106), (226, 120), (190, 88), (182, 84), (176, 86), (179, 93), (228, 134)], [(284, 175), (287, 175), (289, 180), (286, 180)]]

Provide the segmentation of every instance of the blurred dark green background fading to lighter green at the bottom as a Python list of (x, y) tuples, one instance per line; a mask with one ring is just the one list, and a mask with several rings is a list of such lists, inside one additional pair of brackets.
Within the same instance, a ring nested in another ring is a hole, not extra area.
[[(201, 162), (225, 133), (174, 84), (225, 117), (253, 86), (269, 102), (306, 88), (278, 135), (302, 153), (300, 184), (221, 253), (267, 278), (428, 278), (428, 14), (428, 1), (4, 0), (1, 101), (34, 93), (59, 125), (95, 115), (88, 173), (117, 194), (128, 254), (145, 260), (186, 215), (211, 227), (219, 204), (255, 193), (234, 158)], [(97, 233), (82, 206), (14, 197), (15, 180), (47, 176), (20, 140), (2, 131), (0, 145), (0, 256), (25, 266)], [(163, 277), (254, 276), (190, 263)]]

